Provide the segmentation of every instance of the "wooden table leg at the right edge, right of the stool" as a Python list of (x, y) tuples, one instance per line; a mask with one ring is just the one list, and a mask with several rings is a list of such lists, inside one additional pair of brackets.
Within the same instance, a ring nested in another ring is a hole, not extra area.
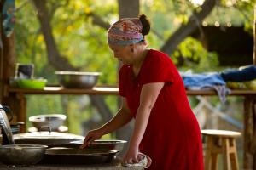
[(247, 96), (244, 99), (244, 142), (243, 169), (256, 170), (256, 99)]

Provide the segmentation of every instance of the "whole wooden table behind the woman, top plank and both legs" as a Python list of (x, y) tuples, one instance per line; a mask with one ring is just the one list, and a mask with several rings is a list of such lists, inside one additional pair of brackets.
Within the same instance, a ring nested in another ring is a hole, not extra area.
[[(18, 122), (26, 122), (26, 94), (87, 94), (87, 95), (118, 95), (119, 88), (96, 87), (92, 89), (67, 89), (61, 87), (45, 87), (42, 90), (9, 88), (5, 95), (13, 95)], [(214, 96), (213, 90), (188, 90), (187, 95)], [(244, 155), (243, 168), (256, 170), (256, 91), (232, 90), (229, 96), (244, 97)], [(16, 104), (17, 103), (17, 104)], [(25, 132), (25, 129), (22, 129)]]

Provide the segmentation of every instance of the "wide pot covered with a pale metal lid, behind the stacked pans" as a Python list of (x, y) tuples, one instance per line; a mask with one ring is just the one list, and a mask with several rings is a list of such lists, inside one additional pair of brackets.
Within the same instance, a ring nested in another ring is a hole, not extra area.
[(84, 136), (72, 133), (33, 132), (14, 135), (15, 144), (44, 144), (49, 147), (70, 144), (72, 141), (83, 140)]

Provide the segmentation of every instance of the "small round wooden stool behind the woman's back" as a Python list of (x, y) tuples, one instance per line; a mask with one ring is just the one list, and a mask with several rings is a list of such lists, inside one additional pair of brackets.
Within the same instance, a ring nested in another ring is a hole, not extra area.
[(205, 169), (218, 169), (218, 154), (223, 154), (224, 170), (239, 169), (236, 137), (241, 133), (224, 130), (201, 130), (201, 134), (207, 137)]

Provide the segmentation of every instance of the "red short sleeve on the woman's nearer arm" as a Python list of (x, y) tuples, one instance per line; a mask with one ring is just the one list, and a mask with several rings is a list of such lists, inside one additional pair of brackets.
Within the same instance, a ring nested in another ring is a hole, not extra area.
[(147, 58), (147, 62), (143, 65), (143, 84), (150, 82), (174, 82), (176, 67), (166, 54), (153, 51)]

